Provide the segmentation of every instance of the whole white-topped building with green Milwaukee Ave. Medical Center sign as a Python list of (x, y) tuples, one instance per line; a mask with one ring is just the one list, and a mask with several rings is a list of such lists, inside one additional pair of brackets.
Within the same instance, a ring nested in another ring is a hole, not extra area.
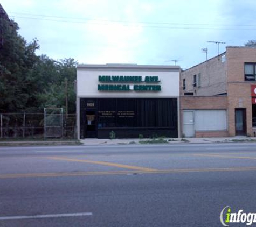
[(78, 65), (78, 138), (179, 137), (179, 66)]

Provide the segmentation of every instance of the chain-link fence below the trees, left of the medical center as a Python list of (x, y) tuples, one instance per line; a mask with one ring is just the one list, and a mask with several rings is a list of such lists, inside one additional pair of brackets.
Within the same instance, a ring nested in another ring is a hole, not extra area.
[[(49, 117), (49, 116), (48, 116)], [(56, 119), (53, 114), (48, 119)], [(63, 115), (61, 113), (61, 124), (58, 124), (60, 133), (51, 133), (47, 138), (76, 139), (76, 115)], [(45, 115), (44, 113), (0, 113), (0, 138), (30, 138), (44, 139)]]

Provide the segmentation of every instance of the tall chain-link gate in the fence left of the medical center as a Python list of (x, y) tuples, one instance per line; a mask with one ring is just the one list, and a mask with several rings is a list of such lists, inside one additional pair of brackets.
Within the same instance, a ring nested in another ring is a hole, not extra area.
[(44, 138), (63, 137), (63, 108), (44, 108)]

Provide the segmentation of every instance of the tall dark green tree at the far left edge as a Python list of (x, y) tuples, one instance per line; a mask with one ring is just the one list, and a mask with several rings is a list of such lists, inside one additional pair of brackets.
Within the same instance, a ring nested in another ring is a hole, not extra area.
[(37, 40), (27, 43), (18, 35), (17, 23), (2, 19), (0, 50), (0, 111), (17, 112), (33, 105), (32, 72), (39, 58)]

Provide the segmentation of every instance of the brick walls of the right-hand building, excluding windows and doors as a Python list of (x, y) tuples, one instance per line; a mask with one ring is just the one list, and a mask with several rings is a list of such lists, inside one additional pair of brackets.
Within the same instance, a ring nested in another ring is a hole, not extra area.
[[(229, 136), (236, 136), (235, 109), (246, 109), (247, 135), (254, 136), (252, 128), (251, 84), (245, 81), (244, 65), (256, 63), (256, 48), (226, 47), (226, 61), (221, 55), (216, 56), (181, 73), (181, 129), (184, 109), (227, 109)], [(193, 75), (201, 73), (201, 88), (194, 89)], [(182, 79), (186, 79), (186, 92), (192, 91), (193, 96), (182, 96)], [(211, 96), (220, 93), (227, 96)], [(202, 97), (206, 96), (206, 97)], [(211, 96), (211, 97), (209, 97)], [(209, 136), (212, 132), (197, 132), (197, 136)], [(218, 132), (216, 132), (218, 133)], [(223, 132), (225, 134), (225, 132)]]

